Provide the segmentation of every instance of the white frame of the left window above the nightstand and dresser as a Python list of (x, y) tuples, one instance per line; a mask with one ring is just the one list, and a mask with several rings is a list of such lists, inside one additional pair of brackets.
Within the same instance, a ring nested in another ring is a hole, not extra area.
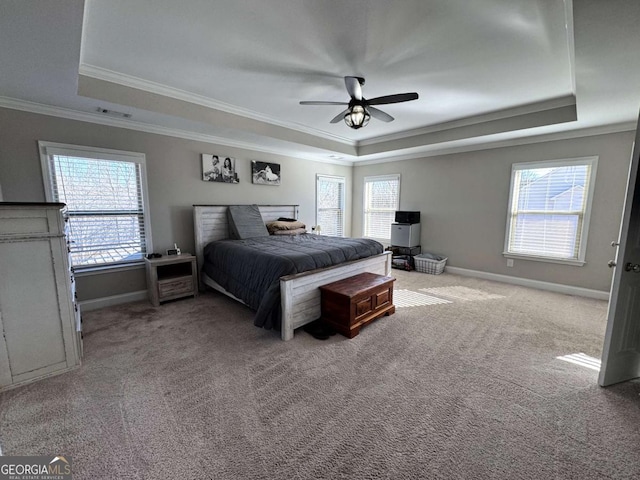
[[(113, 150), (99, 147), (87, 147), (81, 145), (71, 145), (65, 143), (38, 141), (40, 152), (40, 164), (42, 167), (42, 181), (44, 184), (45, 198), (47, 202), (57, 202), (52, 190), (52, 174), (49, 164), (49, 157), (52, 155), (74, 156), (79, 158), (90, 158), (93, 160), (121, 161), (139, 165), (140, 168), (140, 192), (142, 194), (142, 213), (144, 226), (145, 252), (153, 251), (151, 239), (151, 222), (149, 215), (149, 189), (147, 185), (146, 156), (144, 153), (127, 152), (123, 150)], [(138, 268), (144, 265), (143, 258), (126, 263), (104, 263), (92, 265), (73, 265), (74, 272), (100, 272), (108, 270), (127, 270)]]

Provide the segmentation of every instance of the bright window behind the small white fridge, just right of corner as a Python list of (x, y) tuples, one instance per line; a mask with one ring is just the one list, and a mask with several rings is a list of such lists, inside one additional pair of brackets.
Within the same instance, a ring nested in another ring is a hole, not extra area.
[(391, 224), (400, 205), (400, 175), (364, 177), (363, 236), (391, 240)]

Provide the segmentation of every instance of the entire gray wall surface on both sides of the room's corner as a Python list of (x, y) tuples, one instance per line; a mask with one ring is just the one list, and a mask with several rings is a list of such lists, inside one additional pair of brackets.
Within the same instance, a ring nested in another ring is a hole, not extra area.
[[(447, 255), (448, 265), (600, 291), (611, 282), (606, 263), (614, 255), (610, 243), (618, 236), (633, 142), (633, 133), (625, 132), (351, 168), (10, 109), (0, 109), (0, 132), (5, 201), (45, 200), (38, 140), (145, 153), (156, 251), (174, 242), (193, 251), (193, 204), (297, 203), (301, 220), (313, 225), (316, 173), (346, 177), (346, 232), (360, 236), (363, 177), (400, 173), (400, 207), (422, 212), (423, 249)], [(240, 183), (201, 181), (201, 153), (235, 157)], [(508, 268), (502, 250), (511, 164), (591, 155), (600, 159), (586, 265), (515, 260)], [(280, 163), (282, 185), (252, 185), (250, 160)], [(78, 279), (80, 300), (145, 288), (142, 269)]]

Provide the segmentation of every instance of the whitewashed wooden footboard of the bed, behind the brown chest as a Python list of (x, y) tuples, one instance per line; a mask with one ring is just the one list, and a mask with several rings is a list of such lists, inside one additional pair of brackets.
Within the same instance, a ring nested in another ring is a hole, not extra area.
[(363, 272), (389, 275), (391, 252), (355, 260), (320, 271), (305, 272), (280, 278), (282, 297), (282, 340), (291, 340), (293, 331), (320, 318), (321, 285), (348, 278)]

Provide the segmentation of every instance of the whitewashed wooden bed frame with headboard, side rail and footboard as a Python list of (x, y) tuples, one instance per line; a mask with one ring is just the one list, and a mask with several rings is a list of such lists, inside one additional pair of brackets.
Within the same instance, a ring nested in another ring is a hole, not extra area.
[[(229, 238), (227, 207), (228, 205), (193, 206), (196, 257), (200, 269), (204, 265), (205, 245), (214, 240)], [(258, 205), (258, 208), (265, 222), (277, 220), (279, 217), (298, 218), (298, 205)], [(320, 318), (319, 286), (363, 272), (389, 275), (391, 272), (391, 252), (384, 252), (380, 255), (343, 263), (334, 267), (281, 277), (282, 340), (291, 340), (296, 328)], [(199, 276), (201, 288), (207, 285), (242, 302), (242, 300), (227, 292), (203, 272), (200, 272)]]

